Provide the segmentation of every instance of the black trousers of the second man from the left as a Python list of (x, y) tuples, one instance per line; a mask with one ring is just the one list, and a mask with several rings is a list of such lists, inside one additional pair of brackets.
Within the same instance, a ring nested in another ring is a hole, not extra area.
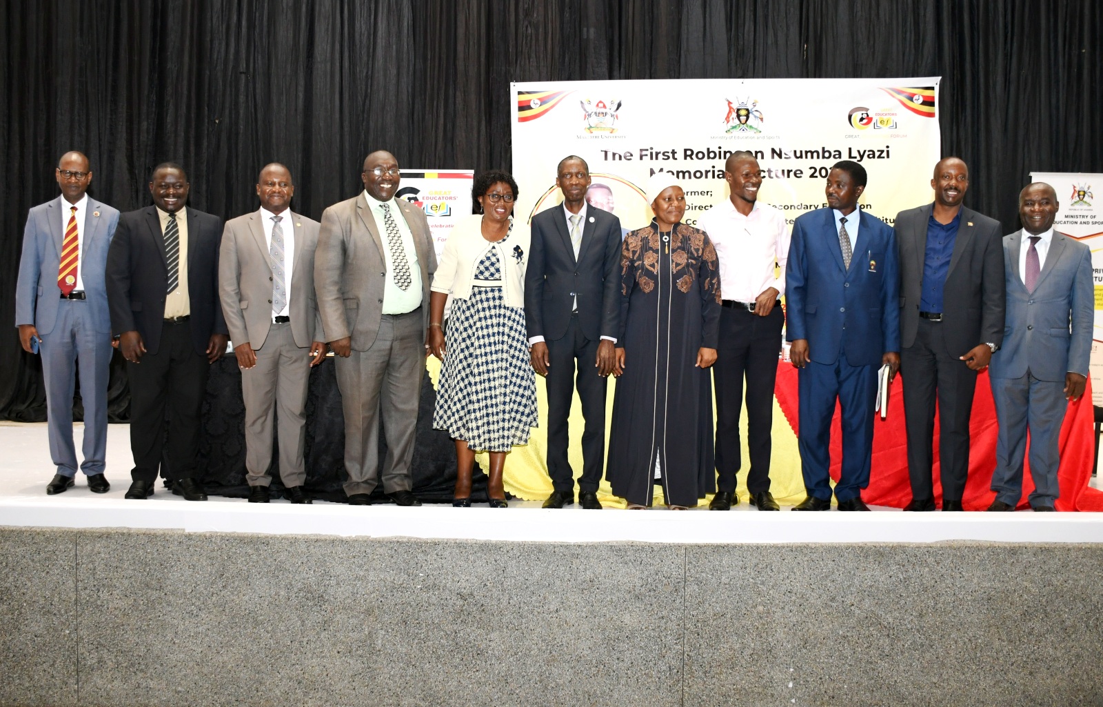
[[(165, 453), (165, 479), (196, 475), (203, 393), (211, 364), (195, 352), (191, 321), (164, 322), (161, 345), (147, 352), (141, 363), (127, 363), (130, 382), (130, 451), (133, 481), (156, 481)], [(165, 411), (169, 413), (165, 440)]]

